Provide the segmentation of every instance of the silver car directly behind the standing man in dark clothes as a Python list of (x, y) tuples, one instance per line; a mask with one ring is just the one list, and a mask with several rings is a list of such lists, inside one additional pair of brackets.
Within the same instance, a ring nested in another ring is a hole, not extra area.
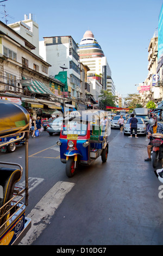
[[(142, 134), (146, 136), (147, 132), (147, 125), (145, 121), (142, 118), (137, 118), (138, 123), (137, 123), (137, 134)], [(130, 134), (130, 118), (127, 120), (127, 123), (123, 127), (124, 135)], [(133, 131), (134, 134), (135, 131)]]

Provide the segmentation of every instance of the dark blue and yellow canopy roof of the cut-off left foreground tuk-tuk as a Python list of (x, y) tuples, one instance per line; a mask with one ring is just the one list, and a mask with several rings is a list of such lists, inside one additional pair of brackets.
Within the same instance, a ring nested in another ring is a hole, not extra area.
[(11, 101), (0, 100), (0, 137), (29, 131), (28, 111)]

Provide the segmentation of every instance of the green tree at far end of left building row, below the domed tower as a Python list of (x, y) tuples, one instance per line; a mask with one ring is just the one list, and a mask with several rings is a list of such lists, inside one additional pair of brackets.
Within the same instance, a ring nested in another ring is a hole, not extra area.
[(106, 106), (115, 107), (115, 101), (118, 99), (117, 96), (112, 95), (111, 92), (106, 90), (101, 90), (101, 95), (98, 96), (100, 98), (101, 106), (103, 109), (106, 109)]

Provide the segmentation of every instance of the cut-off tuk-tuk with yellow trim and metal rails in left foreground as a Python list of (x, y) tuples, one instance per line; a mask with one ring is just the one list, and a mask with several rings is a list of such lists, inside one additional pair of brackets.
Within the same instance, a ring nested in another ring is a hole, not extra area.
[[(26, 187), (18, 187), (23, 168), (20, 164), (0, 162), (0, 245), (18, 245), (31, 227), (30, 218), (25, 217), (28, 205), (28, 138), (29, 114), (25, 108), (7, 100), (0, 100), (0, 137), (21, 133), (26, 138)], [(0, 144), (0, 148), (8, 142)], [(23, 202), (25, 194), (25, 202)]]

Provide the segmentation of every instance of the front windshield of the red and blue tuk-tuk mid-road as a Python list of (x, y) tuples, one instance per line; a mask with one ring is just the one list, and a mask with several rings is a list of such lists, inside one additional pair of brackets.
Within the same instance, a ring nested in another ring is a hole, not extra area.
[(79, 136), (85, 136), (87, 132), (86, 121), (81, 120), (68, 120), (64, 122), (62, 128), (62, 135), (76, 134)]

